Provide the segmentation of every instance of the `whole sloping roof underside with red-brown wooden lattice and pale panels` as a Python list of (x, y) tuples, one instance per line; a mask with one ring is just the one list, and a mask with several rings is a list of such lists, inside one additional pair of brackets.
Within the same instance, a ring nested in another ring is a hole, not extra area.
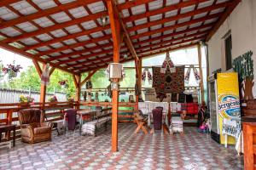
[[(125, 38), (120, 62), (208, 40), (240, 1), (117, 1)], [(104, 0), (1, 0), (0, 47), (73, 74), (106, 67), (113, 40), (102, 16)]]

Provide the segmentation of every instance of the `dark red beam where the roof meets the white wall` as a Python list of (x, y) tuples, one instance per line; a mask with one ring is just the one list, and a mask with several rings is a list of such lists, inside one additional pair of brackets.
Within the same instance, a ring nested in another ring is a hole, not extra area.
[(212, 28), (212, 30), (209, 32), (206, 41), (208, 42), (211, 37), (214, 35), (216, 31), (218, 31), (218, 28), (224, 23), (224, 21), (230, 16), (232, 11), (236, 8), (238, 3), (240, 3), (241, 0), (233, 0), (228, 8), (225, 9), (224, 14), (218, 19), (217, 24)]

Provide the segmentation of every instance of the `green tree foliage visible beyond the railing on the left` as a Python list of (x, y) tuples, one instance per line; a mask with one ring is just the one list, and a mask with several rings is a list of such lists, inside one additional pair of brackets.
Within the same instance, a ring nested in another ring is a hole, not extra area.
[[(1, 67), (1, 65), (0, 65)], [(0, 68), (1, 69), (1, 68)], [(82, 75), (82, 80), (87, 77), (88, 73)], [(1, 72), (0, 72), (1, 76)], [(61, 88), (60, 81), (67, 80), (67, 88)], [(91, 77), (93, 88), (107, 88), (109, 85), (108, 75), (105, 71), (96, 71)], [(126, 70), (125, 78), (120, 82), (122, 88), (133, 88), (135, 85), (135, 70)], [(19, 88), (29, 89), (33, 91), (40, 91), (41, 80), (38, 76), (36, 68), (31, 65), (26, 71), (21, 71), (19, 77), (15, 77), (8, 82), (3, 82), (4, 88)], [(83, 87), (84, 88), (84, 87)], [(73, 82), (73, 76), (67, 72), (55, 70), (49, 79), (49, 85), (47, 86), (47, 92), (53, 93), (54, 91), (63, 92), (67, 94), (67, 98), (73, 97), (75, 94), (75, 86)]]

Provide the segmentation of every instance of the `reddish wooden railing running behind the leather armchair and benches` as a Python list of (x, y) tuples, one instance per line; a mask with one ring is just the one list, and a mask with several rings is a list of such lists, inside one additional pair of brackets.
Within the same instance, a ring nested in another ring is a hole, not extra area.
[[(45, 112), (47, 118), (46, 121), (55, 121), (60, 117), (55, 118), (57, 115), (63, 113), (67, 108), (76, 108), (79, 106), (104, 106), (111, 107), (111, 102), (46, 102), (45, 105), (42, 103), (34, 103), (32, 105), (13, 103), (13, 104), (0, 104), (0, 124), (12, 124), (18, 121), (17, 112), (22, 109), (38, 108)], [(129, 102), (119, 102), (119, 122), (133, 122), (133, 112), (137, 105)], [(127, 114), (125, 114), (127, 113)], [(4, 117), (4, 118), (3, 118)]]

